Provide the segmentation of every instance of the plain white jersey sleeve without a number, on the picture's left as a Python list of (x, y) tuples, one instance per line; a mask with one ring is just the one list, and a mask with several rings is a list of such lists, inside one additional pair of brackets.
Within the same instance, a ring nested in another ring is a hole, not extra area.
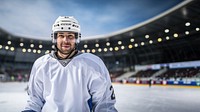
[(36, 63), (34, 63), (31, 70), (27, 93), (29, 99), (24, 111), (32, 110), (40, 112), (44, 105), (44, 99), (42, 97), (43, 83), (42, 74), (38, 71)]

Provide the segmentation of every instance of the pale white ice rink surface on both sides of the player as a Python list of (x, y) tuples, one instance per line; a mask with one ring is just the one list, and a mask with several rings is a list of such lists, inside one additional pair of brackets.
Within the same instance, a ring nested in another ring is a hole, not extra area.
[[(0, 112), (20, 112), (27, 83), (0, 83)], [(200, 88), (113, 84), (119, 112), (200, 112)]]

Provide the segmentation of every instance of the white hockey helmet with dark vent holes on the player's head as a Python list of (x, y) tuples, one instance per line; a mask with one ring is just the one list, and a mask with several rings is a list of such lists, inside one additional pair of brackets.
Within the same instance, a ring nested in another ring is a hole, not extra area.
[(73, 16), (59, 16), (52, 26), (52, 43), (56, 44), (57, 32), (68, 31), (76, 34), (76, 44), (80, 42), (80, 25)]

